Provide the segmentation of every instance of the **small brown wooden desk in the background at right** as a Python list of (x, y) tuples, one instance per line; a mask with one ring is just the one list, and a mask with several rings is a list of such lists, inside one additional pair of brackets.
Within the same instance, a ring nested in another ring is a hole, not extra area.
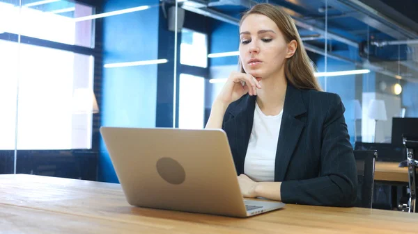
[(408, 167), (398, 167), (399, 162), (376, 162), (375, 181), (408, 183)]

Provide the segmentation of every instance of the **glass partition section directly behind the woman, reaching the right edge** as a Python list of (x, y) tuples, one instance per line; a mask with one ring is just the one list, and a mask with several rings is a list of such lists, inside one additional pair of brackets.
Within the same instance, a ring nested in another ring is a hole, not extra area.
[[(206, 80), (201, 94), (205, 97), (205, 123), (224, 81), (238, 70), (240, 16), (261, 2), (279, 6), (294, 19), (321, 87), (339, 94), (343, 101), (353, 146), (355, 142), (390, 143), (392, 117), (417, 117), (418, 98), (412, 91), (417, 89), (418, 43), (413, 40), (417, 32), (375, 14), (364, 3), (181, 1), (178, 24), (183, 28), (179, 35), (182, 43), (189, 40), (190, 32), (200, 31), (208, 37), (207, 69), (187, 63), (179, 68), (182, 74), (194, 72), (193, 76)], [(180, 47), (180, 60), (194, 58), (203, 51), (190, 48)]]

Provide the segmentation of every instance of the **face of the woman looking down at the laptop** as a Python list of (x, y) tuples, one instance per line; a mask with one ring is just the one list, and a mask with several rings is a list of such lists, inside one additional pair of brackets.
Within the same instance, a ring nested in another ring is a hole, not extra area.
[(277, 76), (286, 58), (295, 53), (277, 25), (265, 15), (248, 15), (240, 26), (240, 59), (247, 74), (258, 80)]

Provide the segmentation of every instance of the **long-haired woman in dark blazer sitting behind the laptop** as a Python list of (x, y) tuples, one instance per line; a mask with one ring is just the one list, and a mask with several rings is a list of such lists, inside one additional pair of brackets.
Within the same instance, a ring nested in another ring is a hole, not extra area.
[(321, 92), (293, 19), (258, 4), (240, 22), (240, 72), (206, 128), (226, 132), (244, 197), (353, 206), (357, 173), (345, 108)]

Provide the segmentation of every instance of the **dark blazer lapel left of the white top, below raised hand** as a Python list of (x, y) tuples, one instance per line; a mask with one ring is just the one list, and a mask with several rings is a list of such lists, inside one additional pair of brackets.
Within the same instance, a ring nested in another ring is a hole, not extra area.
[(244, 173), (245, 156), (247, 155), (247, 148), (249, 143), (249, 137), (254, 122), (254, 110), (256, 108), (256, 96), (247, 95), (242, 101), (231, 110), (231, 114), (234, 116), (235, 124), (235, 141), (237, 147), (237, 154), (235, 160), (237, 162), (238, 174)]

